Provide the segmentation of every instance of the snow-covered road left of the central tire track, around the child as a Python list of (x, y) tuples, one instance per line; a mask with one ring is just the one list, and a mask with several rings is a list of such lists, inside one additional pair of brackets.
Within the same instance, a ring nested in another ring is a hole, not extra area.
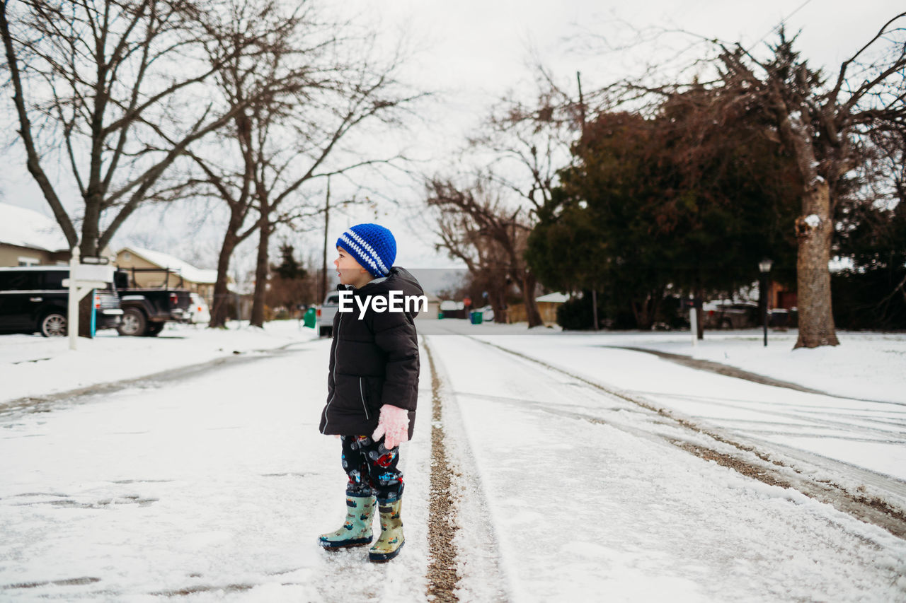
[(407, 554), (316, 543), (345, 512), (339, 442), (317, 430), (329, 346), (7, 416), (0, 599), (420, 600), (426, 426), (404, 459)]

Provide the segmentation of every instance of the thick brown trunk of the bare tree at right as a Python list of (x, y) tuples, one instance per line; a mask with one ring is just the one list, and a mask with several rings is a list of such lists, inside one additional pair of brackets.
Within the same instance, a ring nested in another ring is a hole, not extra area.
[(796, 219), (798, 256), (799, 339), (795, 348), (817, 348), (840, 345), (834, 328), (831, 308), (831, 196), (826, 182), (818, 182), (805, 191), (803, 215)]

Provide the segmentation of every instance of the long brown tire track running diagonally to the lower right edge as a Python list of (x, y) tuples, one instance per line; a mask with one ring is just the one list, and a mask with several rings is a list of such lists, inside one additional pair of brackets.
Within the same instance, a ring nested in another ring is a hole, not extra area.
[[(608, 388), (593, 379), (585, 378), (568, 370), (548, 364), (544, 360), (533, 358), (523, 352), (513, 349), (507, 349), (506, 347), (491, 343), (487, 340), (479, 340), (476, 337), (469, 335), (462, 335), (462, 337), (475, 340), (477, 343), (487, 345), (491, 348), (516, 356), (517, 358), (545, 367), (545, 369), (576, 379), (587, 386), (600, 390), (607, 396), (617, 397), (627, 402), (631, 402), (638, 407), (649, 410), (660, 416), (660, 418), (667, 419), (673, 426), (681, 427), (683, 430), (697, 434), (698, 436), (706, 436), (713, 441), (713, 445), (702, 446), (699, 442), (693, 443), (687, 440), (671, 438), (669, 436), (651, 434), (652, 436), (661, 437), (665, 441), (670, 442), (670, 444), (676, 445), (692, 455), (699, 456), (699, 458), (704, 460), (714, 461), (717, 464), (733, 469), (739, 474), (757, 479), (758, 481), (769, 485), (794, 488), (809, 498), (813, 498), (821, 503), (830, 504), (838, 511), (852, 515), (860, 521), (877, 525), (886, 531), (890, 531), (899, 538), (906, 539), (906, 512), (878, 496), (871, 496), (860, 492), (859, 488), (855, 488), (854, 491), (851, 491), (850, 488), (847, 488), (840, 483), (814, 479), (803, 469), (796, 466), (797, 464), (807, 463), (807, 460), (802, 455), (789, 454), (789, 449), (787, 449), (785, 451), (786, 454), (783, 455), (778, 454), (777, 450), (764, 452), (757, 445), (743, 443), (742, 438), (737, 436), (726, 436), (718, 433), (715, 429), (699, 426), (689, 418), (679, 416), (679, 414), (674, 413), (667, 408), (658, 407), (650, 400), (643, 397), (632, 396), (627, 392)], [(574, 416), (580, 416), (591, 422), (606, 423), (607, 425), (612, 425), (617, 428), (624, 427), (613, 424), (612, 422), (597, 416), (583, 416), (582, 414), (575, 414)], [(852, 476), (855, 479), (859, 479), (865, 473), (863, 470), (853, 472), (847, 465), (835, 462), (833, 459), (825, 458), (823, 468), (827, 469), (828, 467), (833, 467), (831, 471), (834, 474), (843, 475), (845, 477)], [(882, 483), (885, 483), (887, 486), (882, 489), (889, 490), (895, 494), (906, 493), (906, 486), (899, 482), (899, 480), (884, 479), (881, 475), (877, 475), (876, 478), (874, 485), (877, 485), (878, 480), (881, 480)]]

